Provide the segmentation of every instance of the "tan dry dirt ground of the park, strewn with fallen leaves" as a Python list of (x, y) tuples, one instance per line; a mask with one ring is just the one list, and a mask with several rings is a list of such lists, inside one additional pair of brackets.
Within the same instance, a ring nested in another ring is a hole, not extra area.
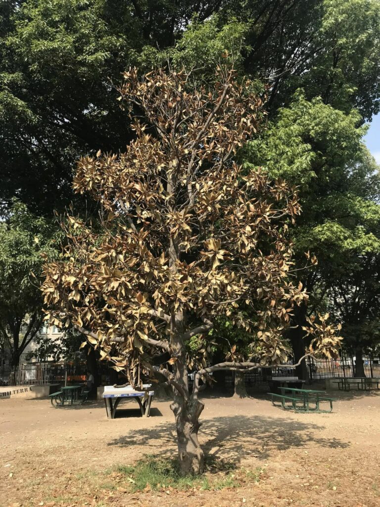
[(109, 470), (145, 454), (175, 454), (169, 402), (154, 400), (151, 417), (141, 418), (137, 403), (125, 401), (120, 417), (107, 420), (100, 402), (0, 400), (0, 505), (378, 507), (380, 391), (333, 395), (331, 414), (283, 411), (263, 393), (205, 396), (204, 450), (237, 469), (260, 469), (259, 481), (137, 493)]

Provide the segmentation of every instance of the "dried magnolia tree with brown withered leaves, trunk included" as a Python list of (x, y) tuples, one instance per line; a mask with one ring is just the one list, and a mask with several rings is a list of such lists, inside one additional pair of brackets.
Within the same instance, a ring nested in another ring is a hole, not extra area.
[[(183, 473), (203, 469), (199, 393), (210, 374), (283, 363), (283, 329), (307, 299), (292, 282), (286, 239), (286, 221), (300, 211), (295, 192), (234, 161), (258, 128), (262, 102), (233, 70), (217, 74), (211, 90), (194, 88), (185, 73), (124, 74), (119, 99), (136, 138), (126, 153), (78, 162), (74, 189), (100, 203), (101, 223), (67, 216), (68, 246), (46, 266), (42, 287), (46, 318), (80, 330), (130, 383), (142, 388), (145, 373), (172, 386)], [(208, 366), (220, 315), (251, 330), (252, 353), (238, 357), (232, 344), (223, 363)], [(309, 353), (336, 351), (339, 338), (323, 317), (308, 332)], [(194, 340), (203, 356), (189, 390)]]

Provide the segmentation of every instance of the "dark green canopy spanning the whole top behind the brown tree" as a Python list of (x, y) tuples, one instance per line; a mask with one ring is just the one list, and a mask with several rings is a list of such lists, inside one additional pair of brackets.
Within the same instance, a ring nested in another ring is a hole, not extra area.
[(309, 100), (370, 119), (380, 96), (379, 12), (377, 0), (3, 2), (3, 202), (17, 195), (39, 212), (62, 209), (79, 154), (124, 150), (132, 132), (111, 83), (129, 65), (195, 66), (200, 82), (215, 60), (234, 57), (257, 92), (271, 85), (272, 115), (304, 88)]

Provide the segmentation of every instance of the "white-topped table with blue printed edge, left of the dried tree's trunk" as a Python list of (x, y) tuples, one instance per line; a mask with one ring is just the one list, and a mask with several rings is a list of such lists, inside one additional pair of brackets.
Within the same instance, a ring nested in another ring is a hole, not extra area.
[(136, 391), (132, 386), (104, 386), (103, 398), (108, 419), (115, 419), (116, 409), (123, 398), (133, 398), (139, 404), (142, 417), (149, 417), (151, 400), (155, 391), (150, 390), (151, 384), (143, 384), (143, 391)]

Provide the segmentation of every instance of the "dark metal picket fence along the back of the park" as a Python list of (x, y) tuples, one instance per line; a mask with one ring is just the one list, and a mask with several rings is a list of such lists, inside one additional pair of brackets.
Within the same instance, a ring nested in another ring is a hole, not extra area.
[[(364, 356), (364, 371), (367, 377), (380, 378), (380, 358)], [(289, 362), (289, 366), (292, 363)], [(313, 381), (337, 377), (353, 377), (355, 373), (355, 357), (340, 357), (339, 359), (325, 359), (315, 361), (308, 357), (307, 367), (309, 377)], [(41, 385), (41, 384), (75, 384), (86, 381), (86, 365), (70, 363), (30, 363), (19, 365), (17, 368), (0, 367), (0, 386), (2, 385)], [(122, 374), (116, 374), (107, 365), (100, 364), (98, 368), (101, 385), (125, 382)], [(275, 376), (292, 377), (293, 368), (258, 368), (245, 373), (247, 385), (265, 384)], [(189, 375), (192, 382), (194, 373)], [(233, 374), (226, 373), (225, 385), (233, 385)]]

